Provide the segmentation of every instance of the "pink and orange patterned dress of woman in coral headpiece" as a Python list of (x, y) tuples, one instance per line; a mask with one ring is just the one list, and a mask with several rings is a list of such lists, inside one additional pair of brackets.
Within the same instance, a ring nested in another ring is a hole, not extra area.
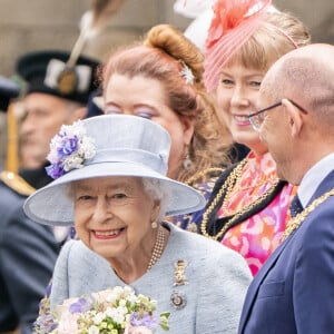
[[(276, 165), (269, 154), (249, 153), (240, 179), (220, 207), (217, 217), (236, 213), (263, 195), (277, 181)], [(255, 275), (279, 245), (286, 223), (291, 218), (289, 204), (296, 187), (286, 184), (276, 197), (261, 212), (230, 227), (222, 244), (242, 254)]]

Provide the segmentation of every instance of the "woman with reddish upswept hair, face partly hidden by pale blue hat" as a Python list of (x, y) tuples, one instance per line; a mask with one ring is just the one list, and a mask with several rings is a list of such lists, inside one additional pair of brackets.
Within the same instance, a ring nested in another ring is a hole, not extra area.
[[(168, 24), (144, 41), (114, 52), (102, 72), (105, 112), (150, 119), (170, 135), (168, 177), (208, 198), (217, 175), (230, 165), (229, 135), (219, 126), (203, 82), (203, 55)], [(174, 216), (175, 225), (199, 232), (203, 210)]]

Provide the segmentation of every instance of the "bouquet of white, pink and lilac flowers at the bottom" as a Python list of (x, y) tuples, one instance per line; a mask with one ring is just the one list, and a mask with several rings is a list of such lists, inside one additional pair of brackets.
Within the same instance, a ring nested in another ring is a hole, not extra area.
[(169, 313), (153, 315), (156, 301), (136, 295), (130, 286), (116, 286), (66, 299), (52, 313), (40, 315), (36, 334), (151, 334), (168, 331)]

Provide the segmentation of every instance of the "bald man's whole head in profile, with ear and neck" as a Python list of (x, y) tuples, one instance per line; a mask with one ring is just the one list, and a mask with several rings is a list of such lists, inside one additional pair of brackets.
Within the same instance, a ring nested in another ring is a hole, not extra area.
[(261, 85), (259, 108), (282, 104), (267, 112), (259, 136), (278, 176), (292, 184), (334, 153), (333, 59), (330, 45), (296, 49), (277, 60)]

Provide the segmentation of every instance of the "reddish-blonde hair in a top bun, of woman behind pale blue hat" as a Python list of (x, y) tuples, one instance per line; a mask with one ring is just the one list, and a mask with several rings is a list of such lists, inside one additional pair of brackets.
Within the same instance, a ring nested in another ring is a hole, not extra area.
[[(148, 31), (140, 45), (111, 55), (104, 71), (104, 87), (114, 73), (159, 80), (169, 108), (178, 117), (194, 118), (195, 131), (188, 148), (193, 165), (188, 169), (179, 166), (180, 181), (204, 168), (229, 164), (227, 143), (224, 144), (227, 132), (219, 129), (214, 105), (204, 88), (203, 60), (199, 49), (180, 31), (170, 24), (159, 24)], [(194, 75), (193, 84), (187, 84), (180, 75), (185, 66)]]

